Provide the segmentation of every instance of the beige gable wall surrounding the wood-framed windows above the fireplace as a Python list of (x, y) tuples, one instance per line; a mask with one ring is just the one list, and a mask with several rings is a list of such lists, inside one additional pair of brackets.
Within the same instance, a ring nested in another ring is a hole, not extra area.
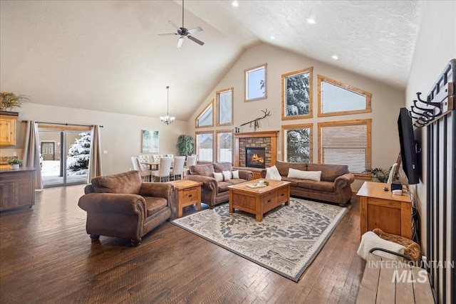
[[(356, 56), (356, 55), (355, 55)], [(267, 96), (266, 100), (258, 100), (244, 103), (244, 70), (254, 66), (267, 63)], [(304, 68), (314, 67), (313, 70), (313, 112), (314, 117), (301, 120), (281, 120), (281, 75), (301, 70)], [(342, 115), (333, 117), (316, 117), (317, 108), (317, 75), (324, 75), (328, 78), (341, 81), (352, 85), (361, 90), (372, 93), (372, 112), (356, 115)], [(372, 167), (382, 167), (388, 169), (397, 159), (400, 147), (398, 139), (397, 120), (399, 108), (405, 106), (404, 93), (389, 88), (377, 81), (368, 79), (361, 75), (351, 73), (347, 70), (336, 68), (326, 63), (314, 61), (311, 58), (298, 56), (294, 53), (284, 51), (280, 48), (267, 44), (260, 44), (247, 50), (239, 61), (235, 63), (227, 75), (202, 101), (197, 111), (192, 115), (188, 122), (189, 134), (195, 134), (196, 131), (211, 130), (212, 128), (195, 129), (195, 117), (199, 112), (214, 99), (215, 92), (224, 88), (234, 87), (234, 126), (241, 125), (244, 122), (261, 117), (261, 110), (268, 109), (271, 116), (259, 122), (259, 131), (281, 130), (281, 125), (294, 125), (303, 123), (313, 123), (313, 148), (314, 162), (318, 162), (318, 129), (317, 122), (336, 121), (336, 120), (355, 120), (372, 118)], [(215, 107), (215, 105), (214, 105)], [(232, 126), (232, 128), (234, 128)], [(216, 127), (217, 129), (227, 129), (227, 127)], [(241, 132), (252, 132), (253, 127), (244, 126)], [(281, 132), (279, 133), (278, 150), (281, 157)], [(363, 180), (357, 180), (353, 184), (353, 191), (357, 191), (363, 184)]]

